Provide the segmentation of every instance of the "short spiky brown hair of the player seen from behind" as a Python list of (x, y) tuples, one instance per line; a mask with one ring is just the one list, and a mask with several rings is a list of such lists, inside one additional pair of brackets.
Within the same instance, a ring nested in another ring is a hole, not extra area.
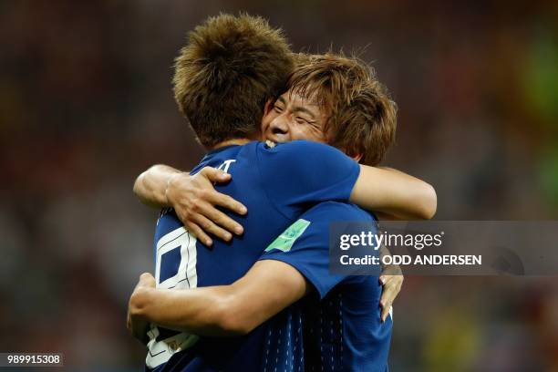
[(198, 140), (212, 148), (252, 136), (266, 100), (284, 91), (293, 67), (282, 31), (262, 17), (210, 17), (175, 60), (174, 97)]

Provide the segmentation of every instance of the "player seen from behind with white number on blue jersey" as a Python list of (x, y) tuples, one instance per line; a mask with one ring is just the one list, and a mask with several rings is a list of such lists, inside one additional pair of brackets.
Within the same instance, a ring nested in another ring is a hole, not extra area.
[[(216, 241), (212, 250), (198, 249), (176, 214), (163, 212), (156, 233), (159, 288), (232, 284), (259, 258), (263, 242), (317, 202), (346, 202), (351, 197), (374, 206), (363, 195), (369, 195), (367, 171), (360, 171), (338, 150), (310, 142), (268, 148), (249, 141), (258, 137), (256, 123), (264, 103), (282, 90), (292, 68), (289, 58), (284, 38), (259, 18), (221, 15), (191, 34), (177, 60), (175, 94), (198, 138), (212, 150), (192, 173), (206, 165), (233, 173), (234, 181), (220, 190), (243, 200), (250, 212), (235, 216), (246, 227), (242, 238)], [(392, 177), (400, 181), (398, 174)], [(221, 310), (206, 308), (205, 313), (218, 315)], [(207, 323), (191, 330), (212, 335), (221, 334), (222, 328), (227, 325)], [(262, 328), (248, 336), (221, 339), (153, 327), (147, 364), (166, 369), (259, 369), (261, 360), (254, 356), (261, 355), (262, 337)]]

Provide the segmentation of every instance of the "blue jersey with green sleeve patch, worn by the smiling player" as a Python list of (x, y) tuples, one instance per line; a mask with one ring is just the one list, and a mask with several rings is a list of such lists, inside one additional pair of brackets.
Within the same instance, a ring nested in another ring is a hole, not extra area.
[[(385, 371), (392, 320), (380, 319), (378, 276), (329, 273), (331, 222), (370, 222), (371, 233), (377, 233), (367, 212), (324, 202), (305, 212), (261, 257), (289, 263), (315, 287), (315, 295), (284, 310), (287, 315), (267, 329), (263, 363), (277, 360), (287, 371)], [(301, 334), (304, 343), (286, 346), (284, 340), (298, 341)]]

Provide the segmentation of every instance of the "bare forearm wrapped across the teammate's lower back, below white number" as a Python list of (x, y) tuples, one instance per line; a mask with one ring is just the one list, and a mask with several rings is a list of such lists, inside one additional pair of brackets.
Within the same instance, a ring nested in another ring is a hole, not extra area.
[[(142, 274), (140, 282), (147, 276), (152, 277)], [(129, 318), (202, 336), (244, 335), (311, 288), (288, 263), (263, 260), (230, 285), (184, 290), (139, 285), (129, 300)]]

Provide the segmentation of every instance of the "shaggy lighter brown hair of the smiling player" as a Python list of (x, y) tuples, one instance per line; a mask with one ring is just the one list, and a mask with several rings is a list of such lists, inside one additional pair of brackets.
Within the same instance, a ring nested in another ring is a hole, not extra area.
[(328, 143), (360, 162), (377, 165), (395, 140), (397, 106), (377, 80), (374, 69), (357, 57), (341, 54), (299, 56), (289, 78), (292, 91), (316, 98), (329, 112)]

